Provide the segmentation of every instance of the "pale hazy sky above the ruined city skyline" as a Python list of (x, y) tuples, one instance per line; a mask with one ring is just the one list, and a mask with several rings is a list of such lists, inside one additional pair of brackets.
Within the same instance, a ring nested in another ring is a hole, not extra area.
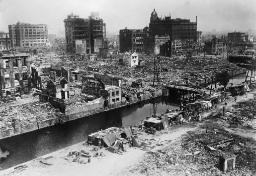
[(198, 31), (256, 30), (255, 0), (0, 0), (0, 31), (18, 21), (47, 24), (48, 34), (64, 35), (63, 20), (68, 14), (88, 18), (100, 12), (106, 29), (118, 33), (125, 27), (148, 26), (155, 9), (158, 17), (187, 18), (198, 22)]

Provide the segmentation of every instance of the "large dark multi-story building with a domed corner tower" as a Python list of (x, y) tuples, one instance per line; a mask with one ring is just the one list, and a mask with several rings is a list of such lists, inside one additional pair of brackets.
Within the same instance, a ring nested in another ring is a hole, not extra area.
[(151, 13), (149, 34), (154, 37), (168, 35), (170, 40), (197, 41), (197, 20), (190, 22), (188, 19), (172, 19), (170, 16), (158, 18), (155, 10)]

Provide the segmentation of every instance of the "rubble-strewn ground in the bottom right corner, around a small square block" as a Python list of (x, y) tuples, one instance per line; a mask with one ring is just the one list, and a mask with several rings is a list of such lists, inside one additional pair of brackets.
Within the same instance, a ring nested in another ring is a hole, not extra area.
[[(209, 144), (226, 139), (235, 141), (214, 145)], [(246, 145), (244, 145), (246, 143)], [(225, 175), (253, 175), (256, 173), (255, 145), (248, 139), (223, 132), (190, 132), (181, 141), (176, 141), (156, 152), (149, 151), (138, 165), (129, 171), (137, 175), (220, 175), (219, 156), (223, 153), (236, 155), (236, 169)]]

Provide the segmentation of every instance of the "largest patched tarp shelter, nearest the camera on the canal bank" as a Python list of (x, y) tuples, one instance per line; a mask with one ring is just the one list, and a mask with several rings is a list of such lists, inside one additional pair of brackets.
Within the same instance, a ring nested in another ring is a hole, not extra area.
[(126, 134), (122, 128), (111, 127), (88, 135), (88, 143), (93, 145), (111, 146), (117, 138), (125, 138)]

